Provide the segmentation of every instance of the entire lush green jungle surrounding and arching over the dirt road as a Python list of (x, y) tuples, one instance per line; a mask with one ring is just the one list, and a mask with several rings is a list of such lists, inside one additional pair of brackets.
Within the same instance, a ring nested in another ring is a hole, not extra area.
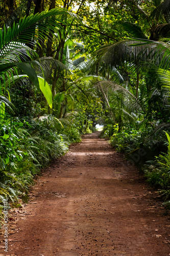
[(170, 206), (170, 1), (0, 2), (0, 207), (100, 125)]

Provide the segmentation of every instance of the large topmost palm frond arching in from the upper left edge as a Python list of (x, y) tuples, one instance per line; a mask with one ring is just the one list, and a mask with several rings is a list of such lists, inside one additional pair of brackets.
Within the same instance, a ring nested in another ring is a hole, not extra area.
[[(55, 20), (49, 17), (55, 17)], [(55, 32), (64, 37), (62, 25), (67, 27), (68, 34), (72, 31), (72, 26), (78, 25), (80, 18), (65, 9), (52, 9), (48, 12), (41, 12), (36, 15), (30, 15), (20, 19), (17, 24), (12, 27), (0, 30), (0, 53), (11, 41), (18, 40), (23, 43), (30, 43), (34, 40), (34, 44), (38, 44), (38, 39), (43, 39), (48, 34), (49, 29), (55, 29)]]

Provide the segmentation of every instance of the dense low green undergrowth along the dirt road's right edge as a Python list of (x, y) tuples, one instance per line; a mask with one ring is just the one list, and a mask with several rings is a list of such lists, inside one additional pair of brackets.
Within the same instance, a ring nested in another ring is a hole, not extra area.
[(169, 131), (155, 133), (149, 127), (136, 130), (124, 127), (118, 132), (118, 125), (105, 126), (102, 136), (110, 136), (110, 144), (118, 152), (137, 165), (148, 183), (162, 195), (164, 204), (170, 207), (170, 137)]

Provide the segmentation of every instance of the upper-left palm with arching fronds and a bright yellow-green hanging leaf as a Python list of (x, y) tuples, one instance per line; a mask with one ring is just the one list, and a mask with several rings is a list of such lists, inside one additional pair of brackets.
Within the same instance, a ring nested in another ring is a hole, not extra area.
[[(49, 19), (54, 17), (54, 20)], [(20, 18), (18, 23), (13, 23), (12, 27), (4, 26), (0, 30), (0, 76), (1, 76), (1, 91), (6, 88), (3, 81), (7, 78), (14, 77), (21, 70), (25, 76), (28, 76), (33, 84), (40, 88), (43, 92), (48, 104), (52, 107), (52, 93), (47, 82), (43, 77), (39, 77), (33, 66), (42, 67), (40, 61), (37, 61), (38, 55), (34, 51), (34, 47), (40, 47), (39, 41), (45, 40), (48, 35), (48, 30), (53, 29), (60, 38), (65, 38), (65, 30), (71, 34), (72, 27), (78, 25), (80, 19), (74, 13), (64, 9), (52, 9), (48, 12), (41, 12), (36, 15)], [(27, 45), (32, 45), (32, 49)], [(46, 61), (52, 62), (51, 59)], [(60, 68), (66, 69), (59, 61)], [(41, 68), (41, 70), (43, 70)], [(41, 72), (42, 73), (42, 72)], [(16, 77), (15, 77), (16, 78)], [(19, 77), (20, 78), (20, 77)], [(16, 78), (17, 79), (17, 78)], [(8, 99), (1, 98), (4, 103), (9, 105)]]

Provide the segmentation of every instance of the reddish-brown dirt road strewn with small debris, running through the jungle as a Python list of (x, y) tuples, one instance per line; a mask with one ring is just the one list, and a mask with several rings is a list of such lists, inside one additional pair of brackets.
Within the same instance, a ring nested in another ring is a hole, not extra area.
[(158, 195), (98, 133), (53, 162), (30, 195), (9, 221), (8, 253), (1, 244), (0, 255), (170, 255)]

